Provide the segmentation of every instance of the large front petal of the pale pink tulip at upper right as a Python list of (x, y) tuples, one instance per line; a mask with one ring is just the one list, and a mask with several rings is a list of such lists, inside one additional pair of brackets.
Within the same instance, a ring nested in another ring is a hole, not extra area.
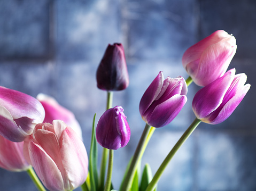
[(230, 48), (229, 41), (210, 45), (201, 55), (197, 73), (191, 78), (199, 86), (206, 86), (223, 76), (236, 53), (236, 45)]

